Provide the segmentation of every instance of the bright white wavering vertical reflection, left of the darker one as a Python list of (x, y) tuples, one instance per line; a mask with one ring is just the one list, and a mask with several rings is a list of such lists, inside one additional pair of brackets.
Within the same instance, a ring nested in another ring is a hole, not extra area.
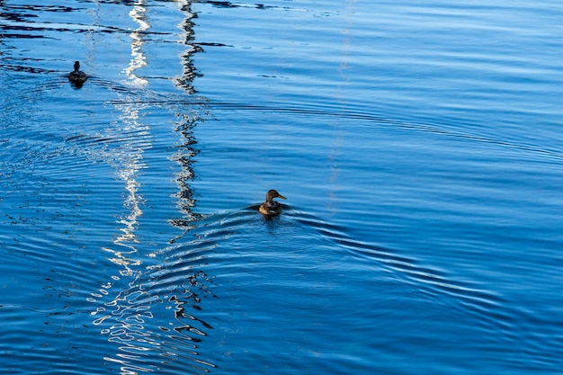
[[(143, 53), (143, 35), (150, 28), (147, 21), (145, 1), (139, 0), (130, 10), (130, 17), (139, 27), (130, 32), (131, 58), (130, 64), (123, 72), (128, 77), (128, 85), (142, 88), (147, 80), (136, 75), (136, 70), (147, 66), (147, 58)], [(121, 94), (127, 95), (127, 94)], [(151, 307), (157, 297), (151, 296), (149, 290), (139, 282), (141, 272), (139, 266), (142, 261), (139, 256), (139, 238), (136, 231), (139, 227), (139, 217), (142, 216), (143, 198), (139, 193), (139, 170), (145, 166), (144, 152), (151, 147), (149, 126), (141, 121), (146, 105), (135, 98), (125, 96), (116, 108), (121, 111), (119, 147), (113, 149), (110, 164), (116, 174), (125, 184), (123, 207), (127, 210), (118, 223), (121, 234), (113, 241), (113, 246), (103, 247), (110, 253), (109, 260), (120, 266), (119, 274), (112, 276), (112, 281), (103, 284), (99, 293), (92, 293), (92, 301), (108, 296), (109, 290), (121, 277), (133, 280), (124, 289), (118, 290), (112, 300), (103, 303), (92, 315), (98, 316), (94, 320), (95, 326), (107, 324), (101, 330), (108, 336), (108, 341), (116, 343), (119, 351), (112, 355), (105, 355), (106, 362), (118, 363), (121, 374), (139, 374), (139, 372), (154, 372), (156, 367), (145, 361), (147, 353), (154, 351), (160, 344), (157, 337), (146, 330), (148, 320), (153, 319)]]

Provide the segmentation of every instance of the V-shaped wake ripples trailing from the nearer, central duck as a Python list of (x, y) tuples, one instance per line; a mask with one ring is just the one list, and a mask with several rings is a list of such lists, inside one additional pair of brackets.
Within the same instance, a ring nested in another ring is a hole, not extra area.
[[(391, 272), (397, 272), (407, 283), (414, 285), (417, 290), (425, 294), (445, 293), (459, 299), (463, 305), (473, 307), (478, 314), (494, 315), (494, 310), (500, 308), (505, 302), (496, 293), (478, 288), (477, 283), (470, 284), (451, 280), (443, 272), (418, 264), (414, 259), (398, 255), (391, 249), (354, 240), (345, 233), (344, 228), (334, 226), (288, 205), (284, 206), (286, 210), (283, 212), (283, 216), (288, 218), (285, 220), (299, 223), (307, 231), (309, 229), (316, 231), (320, 236), (320, 243), (329, 241), (337, 251), (350, 254), (351, 261), (353, 258), (361, 261), (368, 260)], [(194, 266), (203, 267), (211, 262), (220, 263), (227, 259), (235, 259), (228, 254), (218, 254), (219, 247), (224, 246), (224, 243), (228, 244), (233, 240), (232, 237), (237, 237), (237, 234), (247, 233), (249, 228), (255, 227), (255, 223), (259, 222), (259, 219), (255, 206), (249, 206), (241, 211), (211, 215), (195, 230), (196, 238), (177, 247), (173, 257), (169, 258), (169, 262), (172, 262), (170, 264), (174, 264), (174, 270), (176, 270), (169, 275), (178, 280), (182, 278), (182, 272), (191, 270)], [(277, 224), (279, 223), (273, 223), (273, 226)], [(284, 225), (289, 224), (286, 221)]]

